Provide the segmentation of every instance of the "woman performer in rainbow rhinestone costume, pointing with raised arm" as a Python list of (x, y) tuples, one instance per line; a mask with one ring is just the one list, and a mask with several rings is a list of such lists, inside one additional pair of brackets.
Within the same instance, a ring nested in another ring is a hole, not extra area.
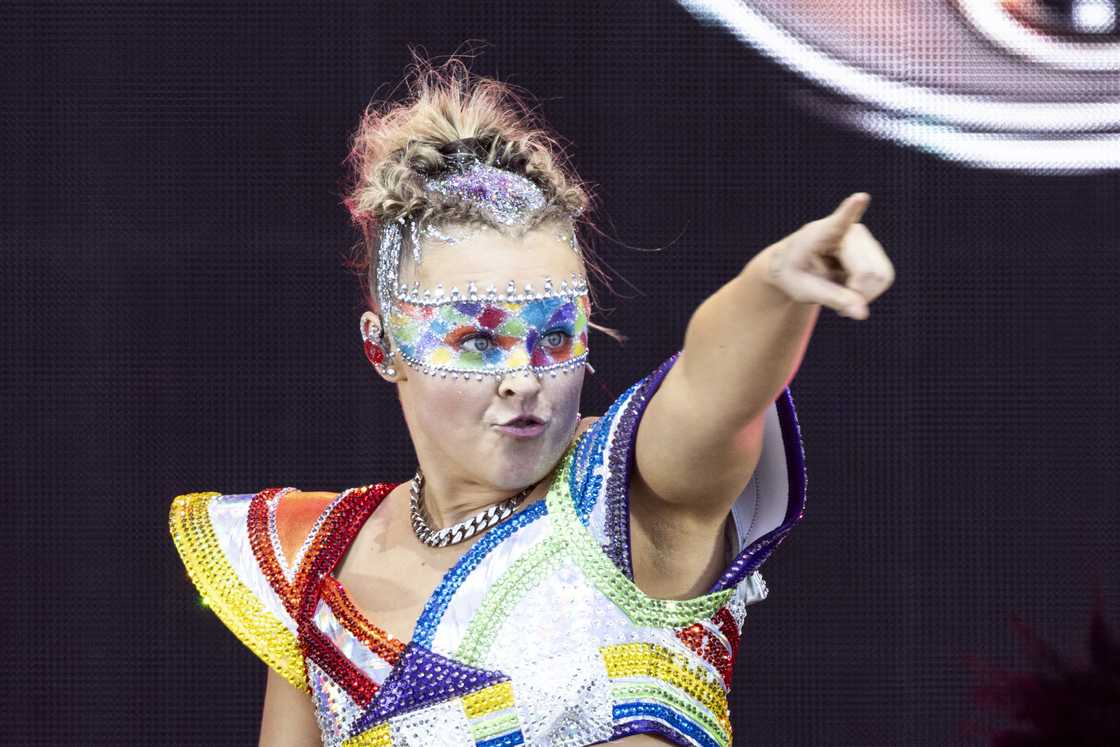
[(268, 664), (261, 745), (729, 745), (758, 568), (804, 507), (787, 383), (820, 305), (865, 319), (894, 278), (869, 196), (756, 254), (581, 419), (590, 198), (455, 65), (367, 110), (348, 159), (360, 332), (416, 475), (180, 495), (175, 544)]

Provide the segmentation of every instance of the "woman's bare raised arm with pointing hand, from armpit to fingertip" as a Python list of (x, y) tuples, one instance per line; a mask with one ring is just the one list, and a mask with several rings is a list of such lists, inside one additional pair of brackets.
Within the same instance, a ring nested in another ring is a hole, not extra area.
[[(631, 510), (635, 534), (643, 534), (634, 538), (635, 576), (643, 540), (661, 548), (650, 562), (664, 566), (666, 552), (689, 552), (672, 548), (671, 538), (693, 544), (718, 538), (758, 463), (766, 409), (801, 365), (820, 305), (851, 307), (849, 316), (864, 319), (893, 282), (883, 248), (858, 223), (868, 199), (851, 195), (766, 248), (693, 312), (680, 357), (635, 437)], [(707, 552), (690, 567), (718, 564)]]

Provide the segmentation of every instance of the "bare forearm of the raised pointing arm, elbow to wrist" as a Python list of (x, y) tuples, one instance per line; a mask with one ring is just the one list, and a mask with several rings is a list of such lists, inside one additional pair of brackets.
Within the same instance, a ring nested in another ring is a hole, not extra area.
[[(754, 420), (801, 365), (819, 304), (800, 304), (766, 281), (772, 244), (692, 314), (674, 367), (696, 407), (722, 424)], [(717, 424), (717, 423), (713, 423)]]

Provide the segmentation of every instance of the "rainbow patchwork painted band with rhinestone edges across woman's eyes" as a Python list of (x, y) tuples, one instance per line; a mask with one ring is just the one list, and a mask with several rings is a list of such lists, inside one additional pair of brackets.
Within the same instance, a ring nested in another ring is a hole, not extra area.
[(567, 373), (587, 360), (586, 293), (413, 304), (396, 300), (390, 329), (403, 357), (423, 373), (504, 376)]

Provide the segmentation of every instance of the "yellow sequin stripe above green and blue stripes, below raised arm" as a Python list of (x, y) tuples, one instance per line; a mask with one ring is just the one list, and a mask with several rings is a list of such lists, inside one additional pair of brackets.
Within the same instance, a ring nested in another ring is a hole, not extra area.
[(684, 654), (653, 643), (620, 643), (599, 648), (607, 665), (607, 676), (652, 676), (676, 685), (689, 693), (730, 731), (731, 718), (727, 706), (727, 691), (707, 671), (689, 661)]

